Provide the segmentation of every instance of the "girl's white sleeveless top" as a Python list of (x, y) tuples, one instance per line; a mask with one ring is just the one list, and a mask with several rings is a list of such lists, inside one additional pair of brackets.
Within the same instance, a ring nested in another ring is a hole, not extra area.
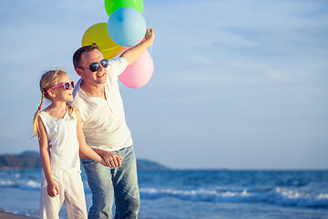
[(61, 119), (56, 119), (45, 111), (39, 114), (46, 129), (51, 170), (80, 169), (79, 146), (77, 141), (77, 117), (72, 120), (68, 111)]

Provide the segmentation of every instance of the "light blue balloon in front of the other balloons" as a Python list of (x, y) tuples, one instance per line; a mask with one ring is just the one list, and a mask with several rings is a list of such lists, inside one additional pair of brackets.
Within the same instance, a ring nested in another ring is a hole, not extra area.
[(108, 34), (122, 47), (136, 46), (147, 30), (144, 17), (135, 9), (122, 7), (108, 18)]

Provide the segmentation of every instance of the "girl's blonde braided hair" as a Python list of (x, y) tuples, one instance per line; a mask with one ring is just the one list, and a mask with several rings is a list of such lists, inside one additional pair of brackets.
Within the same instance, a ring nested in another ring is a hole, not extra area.
[[(44, 103), (45, 98), (50, 99), (49, 95), (46, 93), (46, 90), (56, 86), (58, 84), (60, 78), (63, 75), (67, 75), (67, 71), (64, 70), (64, 69), (56, 68), (55, 70), (46, 71), (46, 73), (43, 74), (41, 79), (40, 79), (40, 90), (41, 90), (41, 93), (42, 93), (42, 98), (41, 98), (40, 106), (38, 107), (38, 109), (36, 111), (36, 114), (34, 116), (34, 120), (33, 120), (33, 130), (34, 130), (34, 133), (35, 133), (33, 138), (36, 138), (36, 136), (39, 137), (39, 135), (40, 135), (40, 128), (39, 128), (39, 125), (38, 125), (39, 113), (40, 113), (40, 110), (41, 110), (41, 107)], [(67, 110), (68, 110), (69, 117), (72, 120), (74, 120), (74, 118), (73, 118), (73, 107), (71, 105), (69, 105), (68, 103), (66, 105), (67, 105)]]

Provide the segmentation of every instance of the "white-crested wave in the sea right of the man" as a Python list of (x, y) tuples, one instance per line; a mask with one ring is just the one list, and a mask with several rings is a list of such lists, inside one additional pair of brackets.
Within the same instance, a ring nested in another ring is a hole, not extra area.
[(210, 203), (271, 203), (282, 206), (328, 208), (328, 193), (302, 193), (286, 188), (257, 188), (243, 190), (174, 190), (174, 189), (140, 189), (142, 199), (159, 199), (173, 197), (191, 202)]

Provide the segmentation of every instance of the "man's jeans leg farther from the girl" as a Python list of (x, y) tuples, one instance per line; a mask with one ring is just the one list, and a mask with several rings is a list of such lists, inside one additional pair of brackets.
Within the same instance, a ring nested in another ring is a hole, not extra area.
[(112, 169), (116, 203), (115, 218), (138, 218), (140, 196), (136, 156), (132, 146), (116, 152), (123, 160), (119, 168)]

